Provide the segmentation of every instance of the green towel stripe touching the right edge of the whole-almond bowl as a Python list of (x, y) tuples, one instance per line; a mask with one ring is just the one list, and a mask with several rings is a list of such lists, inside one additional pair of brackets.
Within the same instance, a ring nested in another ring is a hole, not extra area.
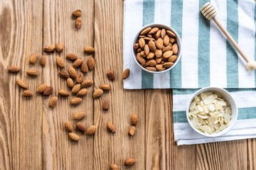
[[(171, 28), (174, 28), (181, 38), (182, 43), (182, 11), (183, 1), (171, 0)], [(182, 60), (182, 56), (181, 56)], [(181, 88), (181, 60), (170, 71), (170, 86)]]

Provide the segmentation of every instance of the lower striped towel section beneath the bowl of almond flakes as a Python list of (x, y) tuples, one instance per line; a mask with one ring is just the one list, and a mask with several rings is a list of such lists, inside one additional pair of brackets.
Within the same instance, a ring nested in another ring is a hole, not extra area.
[(220, 137), (203, 137), (188, 124), (186, 106), (196, 90), (198, 89), (173, 91), (174, 140), (177, 145), (193, 145), (256, 137), (256, 89), (228, 89), (238, 105), (238, 120), (229, 132)]

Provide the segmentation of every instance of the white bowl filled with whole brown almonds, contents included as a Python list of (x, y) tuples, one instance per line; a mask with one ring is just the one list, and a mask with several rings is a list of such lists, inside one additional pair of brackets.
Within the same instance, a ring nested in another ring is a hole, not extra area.
[(181, 38), (171, 27), (151, 23), (140, 29), (134, 37), (132, 55), (146, 72), (168, 72), (181, 58)]

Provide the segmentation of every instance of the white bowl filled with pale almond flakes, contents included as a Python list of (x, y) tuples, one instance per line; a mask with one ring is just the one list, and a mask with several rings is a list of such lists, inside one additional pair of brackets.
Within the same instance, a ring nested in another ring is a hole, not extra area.
[(193, 94), (188, 101), (186, 118), (199, 134), (218, 137), (233, 128), (238, 119), (238, 107), (228, 91), (209, 86)]

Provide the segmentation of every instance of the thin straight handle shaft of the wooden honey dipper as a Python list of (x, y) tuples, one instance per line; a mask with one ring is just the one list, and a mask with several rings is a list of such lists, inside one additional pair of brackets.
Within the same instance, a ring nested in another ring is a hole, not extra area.
[(245, 62), (249, 62), (248, 58), (246, 57), (245, 53), (242, 52), (242, 49), (240, 49), (240, 47), (238, 46), (238, 43), (235, 42), (234, 38), (230, 35), (230, 33), (228, 33), (228, 30), (226, 30), (220, 23), (219, 21), (213, 17), (213, 21), (216, 23), (216, 25), (218, 26), (218, 28), (220, 28), (220, 30), (226, 35), (226, 37), (228, 38), (228, 40), (230, 40), (230, 42), (233, 44), (233, 46), (235, 47), (236, 50), (238, 50), (239, 54), (242, 56), (242, 58), (245, 60)]

